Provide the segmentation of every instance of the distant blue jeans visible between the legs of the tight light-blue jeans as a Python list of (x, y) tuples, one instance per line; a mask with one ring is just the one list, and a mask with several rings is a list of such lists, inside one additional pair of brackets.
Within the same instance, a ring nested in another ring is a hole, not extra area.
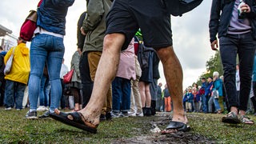
[(50, 79), (42, 75), (40, 86), (40, 106), (49, 106)]

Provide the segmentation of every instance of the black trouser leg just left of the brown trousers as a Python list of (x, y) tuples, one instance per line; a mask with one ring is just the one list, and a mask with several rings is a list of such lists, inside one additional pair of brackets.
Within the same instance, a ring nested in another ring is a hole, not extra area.
[(90, 101), (90, 95), (94, 87), (94, 82), (90, 78), (90, 68), (87, 55), (88, 53), (84, 52), (79, 63), (79, 70), (82, 81), (82, 107), (85, 107)]

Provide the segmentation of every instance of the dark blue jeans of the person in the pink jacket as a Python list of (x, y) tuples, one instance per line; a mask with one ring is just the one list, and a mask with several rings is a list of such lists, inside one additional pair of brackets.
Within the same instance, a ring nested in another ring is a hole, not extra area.
[[(130, 110), (130, 79), (114, 78), (112, 82), (112, 110), (128, 112)], [(122, 108), (121, 108), (122, 103)]]

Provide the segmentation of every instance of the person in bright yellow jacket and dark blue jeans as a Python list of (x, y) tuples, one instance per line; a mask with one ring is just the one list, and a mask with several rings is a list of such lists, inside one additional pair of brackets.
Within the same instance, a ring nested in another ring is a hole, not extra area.
[(24, 90), (30, 75), (30, 50), (26, 47), (26, 41), (18, 38), (18, 46), (12, 47), (6, 54), (4, 62), (14, 54), (10, 72), (6, 74), (5, 110), (22, 110)]

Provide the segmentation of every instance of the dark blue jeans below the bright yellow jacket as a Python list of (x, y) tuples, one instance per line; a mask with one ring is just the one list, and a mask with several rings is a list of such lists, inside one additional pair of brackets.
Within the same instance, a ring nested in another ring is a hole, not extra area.
[(5, 105), (7, 107), (14, 107), (16, 109), (22, 109), (22, 101), (24, 97), (24, 90), (26, 85), (20, 82), (14, 82), (6, 80), (6, 93), (5, 93)]

